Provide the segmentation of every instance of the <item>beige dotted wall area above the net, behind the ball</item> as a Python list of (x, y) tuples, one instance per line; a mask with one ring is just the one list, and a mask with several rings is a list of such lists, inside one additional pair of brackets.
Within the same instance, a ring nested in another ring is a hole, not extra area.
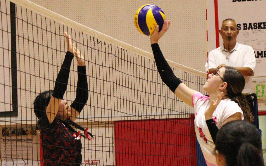
[(144, 4), (162, 8), (171, 26), (160, 39), (166, 59), (204, 71), (206, 62), (205, 0), (31, 0), (51, 11), (81, 23), (122, 42), (152, 52), (150, 38), (138, 32), (134, 15)]

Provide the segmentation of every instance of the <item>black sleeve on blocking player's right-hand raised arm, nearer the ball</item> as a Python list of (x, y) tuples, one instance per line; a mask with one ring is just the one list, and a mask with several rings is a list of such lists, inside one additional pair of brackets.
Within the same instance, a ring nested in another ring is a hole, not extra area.
[(75, 108), (80, 113), (89, 98), (86, 66), (78, 66), (77, 73), (78, 74), (76, 98), (71, 104), (71, 107)]

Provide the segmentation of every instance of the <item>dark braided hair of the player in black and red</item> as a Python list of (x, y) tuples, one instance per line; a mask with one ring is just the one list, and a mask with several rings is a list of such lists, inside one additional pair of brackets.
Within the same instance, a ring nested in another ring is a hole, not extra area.
[[(53, 90), (44, 91), (35, 98), (34, 103), (33, 103), (34, 105), (33, 108), (34, 108), (34, 113), (38, 117), (38, 119), (41, 119), (45, 115), (46, 107), (48, 106), (50, 102), (52, 94), (53, 94)], [(70, 118), (67, 118), (65, 121), (62, 121), (58, 118), (56, 119), (62, 122), (63, 124), (65, 124), (65, 126), (70, 130), (70, 132), (77, 132), (75, 129), (73, 129), (72, 126), (82, 131), (85, 131), (83, 127), (81, 127), (77, 123), (70, 120)], [(93, 135), (90, 132), (88, 132), (88, 134), (93, 138)], [(80, 135), (86, 138), (86, 136), (84, 136), (83, 134), (80, 134)]]

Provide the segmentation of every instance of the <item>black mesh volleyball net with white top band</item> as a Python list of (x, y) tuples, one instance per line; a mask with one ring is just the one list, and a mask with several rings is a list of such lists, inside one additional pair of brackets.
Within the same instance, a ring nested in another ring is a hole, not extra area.
[[(81, 139), (82, 164), (196, 165), (193, 109), (162, 82), (153, 54), (30, 1), (0, 2), (2, 165), (41, 165), (33, 102), (54, 87), (67, 51), (64, 31), (87, 66), (89, 99), (76, 122), (94, 139)], [(205, 73), (168, 62), (203, 93)], [(64, 96), (69, 105), (76, 85), (74, 59)]]

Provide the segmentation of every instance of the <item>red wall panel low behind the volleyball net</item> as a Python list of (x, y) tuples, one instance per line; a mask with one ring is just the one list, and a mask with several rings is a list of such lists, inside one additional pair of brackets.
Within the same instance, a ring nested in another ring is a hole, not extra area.
[(196, 165), (194, 118), (116, 121), (116, 165)]

